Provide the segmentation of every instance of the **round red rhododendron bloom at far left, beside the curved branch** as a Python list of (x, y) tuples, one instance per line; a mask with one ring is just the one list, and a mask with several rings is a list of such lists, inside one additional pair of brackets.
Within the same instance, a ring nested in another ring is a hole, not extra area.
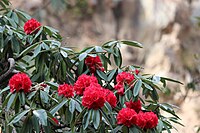
[(25, 73), (17, 73), (9, 80), (10, 92), (19, 92), (23, 90), (25, 93), (31, 89), (31, 80)]

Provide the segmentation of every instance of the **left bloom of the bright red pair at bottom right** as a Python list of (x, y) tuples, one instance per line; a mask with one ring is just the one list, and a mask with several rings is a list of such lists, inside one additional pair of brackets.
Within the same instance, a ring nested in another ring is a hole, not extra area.
[(123, 108), (117, 114), (117, 124), (131, 127), (137, 123), (137, 113), (130, 108)]

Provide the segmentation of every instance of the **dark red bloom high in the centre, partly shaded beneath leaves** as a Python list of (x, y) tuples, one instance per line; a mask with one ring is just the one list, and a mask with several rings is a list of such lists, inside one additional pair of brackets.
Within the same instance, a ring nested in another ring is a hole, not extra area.
[(99, 56), (96, 56), (96, 57), (88, 56), (85, 59), (85, 64), (89, 67), (89, 70), (91, 73), (94, 73), (96, 70), (104, 71), (104, 68)]

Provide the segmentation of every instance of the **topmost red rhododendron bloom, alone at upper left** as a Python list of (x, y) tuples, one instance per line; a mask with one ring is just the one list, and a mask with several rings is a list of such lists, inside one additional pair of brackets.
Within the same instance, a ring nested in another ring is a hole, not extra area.
[[(28, 20), (25, 24), (24, 24), (24, 32), (29, 35), (32, 34), (34, 31), (38, 32), (39, 28), (41, 24), (40, 22), (38, 22), (37, 20), (35, 20), (34, 18)], [(36, 30), (37, 29), (37, 30)]]

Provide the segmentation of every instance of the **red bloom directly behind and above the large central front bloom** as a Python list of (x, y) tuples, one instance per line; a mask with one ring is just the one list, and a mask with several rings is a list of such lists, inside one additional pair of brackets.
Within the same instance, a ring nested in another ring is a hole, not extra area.
[(77, 95), (83, 95), (85, 88), (90, 86), (91, 83), (98, 83), (98, 80), (95, 76), (89, 76), (86, 74), (82, 74), (78, 77), (78, 80), (74, 84), (74, 90)]

